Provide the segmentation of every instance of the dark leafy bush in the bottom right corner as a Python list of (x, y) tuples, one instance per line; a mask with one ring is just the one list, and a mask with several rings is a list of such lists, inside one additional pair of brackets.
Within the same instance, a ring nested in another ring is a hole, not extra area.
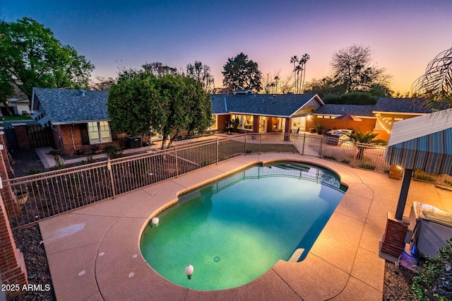
[(412, 290), (419, 300), (452, 300), (452, 240), (438, 249), (438, 256), (428, 257), (419, 276), (413, 278)]

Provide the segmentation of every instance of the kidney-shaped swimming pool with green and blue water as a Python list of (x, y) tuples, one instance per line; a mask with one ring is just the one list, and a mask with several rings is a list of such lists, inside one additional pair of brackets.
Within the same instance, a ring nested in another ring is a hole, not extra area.
[[(249, 167), (179, 196), (177, 205), (158, 215), (157, 226), (145, 228), (141, 252), (178, 285), (234, 288), (279, 259), (304, 259), (344, 192), (338, 176), (322, 167)], [(187, 264), (194, 266), (190, 280)]]

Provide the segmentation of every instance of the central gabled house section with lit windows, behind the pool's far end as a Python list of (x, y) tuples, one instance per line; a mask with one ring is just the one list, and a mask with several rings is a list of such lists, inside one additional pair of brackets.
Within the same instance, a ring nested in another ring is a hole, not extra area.
[(234, 94), (213, 94), (212, 126), (225, 130), (231, 119), (239, 118), (239, 132), (290, 133), (306, 130), (307, 117), (324, 105), (316, 94), (254, 94), (236, 90)]

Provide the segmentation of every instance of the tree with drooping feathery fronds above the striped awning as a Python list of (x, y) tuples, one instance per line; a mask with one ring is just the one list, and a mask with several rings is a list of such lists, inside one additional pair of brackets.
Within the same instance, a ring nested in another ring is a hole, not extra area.
[(452, 107), (452, 48), (439, 53), (412, 86), (412, 94), (425, 98), (429, 110)]

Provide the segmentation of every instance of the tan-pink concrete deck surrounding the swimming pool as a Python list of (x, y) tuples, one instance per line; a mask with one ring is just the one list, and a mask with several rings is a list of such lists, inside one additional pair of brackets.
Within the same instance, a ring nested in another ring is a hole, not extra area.
[[(304, 261), (280, 260), (251, 283), (210, 292), (170, 283), (145, 262), (141, 231), (178, 193), (271, 160), (328, 167), (349, 187)], [(387, 174), (310, 156), (240, 155), (42, 220), (40, 230), (57, 300), (381, 300), (385, 260), (379, 249), (400, 185)], [(452, 210), (451, 199), (451, 191), (412, 181), (404, 216), (413, 201)]]

